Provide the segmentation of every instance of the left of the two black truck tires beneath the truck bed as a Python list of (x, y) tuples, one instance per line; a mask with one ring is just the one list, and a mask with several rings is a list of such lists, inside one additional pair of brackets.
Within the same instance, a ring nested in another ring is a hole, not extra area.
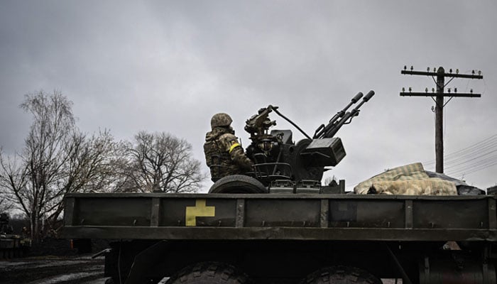
[(252, 284), (252, 281), (226, 263), (202, 262), (183, 268), (165, 284)]

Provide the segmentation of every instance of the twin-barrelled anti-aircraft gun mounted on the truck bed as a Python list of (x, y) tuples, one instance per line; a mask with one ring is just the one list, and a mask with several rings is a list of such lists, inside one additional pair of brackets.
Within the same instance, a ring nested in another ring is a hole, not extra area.
[[(350, 124), (359, 115), (359, 108), (373, 97), (371, 90), (366, 96), (359, 92), (351, 102), (338, 111), (327, 125), (319, 126), (311, 138), (297, 124), (272, 106), (259, 109), (257, 114), (247, 119), (245, 131), (250, 134), (251, 144), (246, 148), (246, 154), (254, 163), (253, 178), (262, 183), (262, 187), (319, 187), (322, 175), (329, 166), (337, 165), (346, 155), (342, 140), (334, 135), (344, 124)], [(359, 102), (349, 111), (349, 108)], [(302, 133), (306, 138), (295, 143), (290, 130), (270, 130), (276, 121), (269, 118), (275, 112)], [(244, 177), (237, 177), (243, 178)], [(232, 178), (227, 178), (232, 180)], [(223, 187), (226, 179), (214, 183), (209, 192), (231, 192), (216, 190), (219, 184)], [(236, 187), (240, 188), (239, 182)], [(261, 187), (261, 186), (259, 186)]]

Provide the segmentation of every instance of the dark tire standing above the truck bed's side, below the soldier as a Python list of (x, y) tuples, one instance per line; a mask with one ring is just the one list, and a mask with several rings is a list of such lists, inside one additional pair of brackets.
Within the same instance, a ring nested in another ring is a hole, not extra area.
[(267, 188), (248, 175), (227, 175), (209, 189), (209, 193), (267, 193)]

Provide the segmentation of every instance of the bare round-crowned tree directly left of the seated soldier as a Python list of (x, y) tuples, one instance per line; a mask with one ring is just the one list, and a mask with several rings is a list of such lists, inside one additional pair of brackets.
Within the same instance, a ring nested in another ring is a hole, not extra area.
[(200, 161), (192, 158), (190, 143), (169, 133), (141, 131), (129, 153), (131, 191), (197, 192), (207, 177)]

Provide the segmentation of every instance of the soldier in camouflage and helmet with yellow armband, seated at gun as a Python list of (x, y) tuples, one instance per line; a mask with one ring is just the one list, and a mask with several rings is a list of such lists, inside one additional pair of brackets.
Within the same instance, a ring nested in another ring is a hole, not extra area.
[(246, 173), (253, 165), (241, 148), (238, 138), (234, 136), (232, 121), (228, 114), (214, 114), (211, 119), (212, 131), (205, 135), (205, 160), (211, 170), (213, 182), (226, 175)]

